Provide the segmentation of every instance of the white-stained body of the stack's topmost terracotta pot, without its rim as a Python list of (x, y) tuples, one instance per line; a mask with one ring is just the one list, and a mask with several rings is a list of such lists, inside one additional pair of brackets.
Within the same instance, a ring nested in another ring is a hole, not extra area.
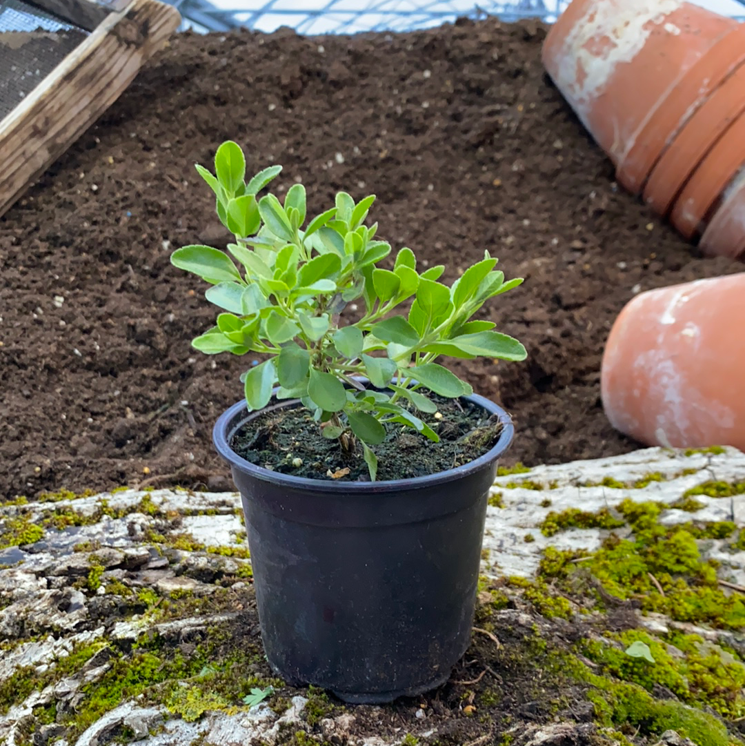
[[(680, 0), (573, 0), (551, 28), (543, 62), (616, 165), (734, 19)], [(669, 132), (655, 148), (664, 147)]]

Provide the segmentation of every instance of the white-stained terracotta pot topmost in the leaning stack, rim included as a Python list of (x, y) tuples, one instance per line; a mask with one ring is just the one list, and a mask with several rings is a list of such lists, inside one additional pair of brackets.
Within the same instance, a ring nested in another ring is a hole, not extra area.
[(543, 62), (638, 193), (681, 121), (731, 70), (740, 47), (725, 44), (729, 58), (712, 50), (740, 29), (680, 0), (573, 0), (547, 36)]

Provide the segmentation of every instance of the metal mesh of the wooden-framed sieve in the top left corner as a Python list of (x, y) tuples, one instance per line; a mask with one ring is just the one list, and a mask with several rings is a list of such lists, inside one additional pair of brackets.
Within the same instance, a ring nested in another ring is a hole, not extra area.
[(21, 0), (0, 0), (0, 121), (87, 35)]

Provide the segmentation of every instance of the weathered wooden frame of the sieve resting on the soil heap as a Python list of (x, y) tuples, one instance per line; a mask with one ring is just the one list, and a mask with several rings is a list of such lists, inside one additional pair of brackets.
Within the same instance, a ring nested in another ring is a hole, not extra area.
[[(0, 216), (119, 98), (180, 24), (157, 0), (26, 0), (92, 33), (0, 121)], [(92, 28), (89, 28), (92, 27)]]

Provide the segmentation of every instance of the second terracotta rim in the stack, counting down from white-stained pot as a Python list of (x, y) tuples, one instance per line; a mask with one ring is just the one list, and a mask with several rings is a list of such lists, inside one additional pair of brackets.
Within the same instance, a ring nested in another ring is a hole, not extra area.
[[(741, 31), (745, 32), (745, 25)], [(741, 37), (742, 56), (745, 57), (745, 34), (729, 35), (735, 36)], [(656, 213), (667, 215), (691, 174), (744, 111), (745, 65), (741, 65), (688, 119), (658, 160), (644, 187), (644, 200)]]

